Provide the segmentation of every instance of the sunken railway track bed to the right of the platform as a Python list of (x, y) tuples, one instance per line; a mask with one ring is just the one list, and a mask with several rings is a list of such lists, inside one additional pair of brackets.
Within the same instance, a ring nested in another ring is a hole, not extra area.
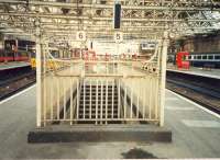
[(167, 71), (166, 88), (220, 114), (220, 79)]

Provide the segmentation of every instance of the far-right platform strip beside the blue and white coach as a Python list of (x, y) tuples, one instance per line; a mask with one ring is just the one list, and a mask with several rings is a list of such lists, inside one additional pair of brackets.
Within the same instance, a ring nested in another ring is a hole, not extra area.
[(167, 65), (167, 70), (220, 79), (220, 69), (204, 70), (202, 68), (190, 67), (189, 70), (183, 70), (169, 64)]

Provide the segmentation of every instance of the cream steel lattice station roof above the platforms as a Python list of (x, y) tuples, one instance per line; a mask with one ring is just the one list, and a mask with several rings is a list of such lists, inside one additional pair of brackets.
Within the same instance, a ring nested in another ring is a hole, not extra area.
[(0, 33), (75, 39), (112, 39), (113, 8), (121, 3), (124, 39), (156, 39), (210, 34), (220, 28), (220, 0), (0, 0)]

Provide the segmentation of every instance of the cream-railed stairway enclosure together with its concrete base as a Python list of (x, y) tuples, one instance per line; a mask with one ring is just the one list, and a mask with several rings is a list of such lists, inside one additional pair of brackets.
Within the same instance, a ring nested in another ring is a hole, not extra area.
[[(44, 55), (38, 70), (37, 127), (30, 132), (29, 141), (37, 137), (40, 141), (45, 137), (65, 141), (66, 136), (57, 136), (64, 133), (72, 137), (70, 141), (81, 135), (99, 139), (97, 132), (118, 133), (113, 137), (121, 140), (127, 137), (170, 141), (170, 132), (162, 127), (166, 67), (161, 52), (158, 45), (148, 60), (106, 60), (102, 56), (63, 60)], [(107, 139), (107, 135), (101, 139)]]

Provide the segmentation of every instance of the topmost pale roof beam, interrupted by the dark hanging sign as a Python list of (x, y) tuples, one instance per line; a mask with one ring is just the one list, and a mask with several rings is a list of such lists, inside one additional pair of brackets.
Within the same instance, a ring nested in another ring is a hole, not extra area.
[[(70, 3), (70, 2), (50, 2), (50, 1), (35, 1), (35, 0), (0, 0), (0, 3), (9, 4), (25, 4), (25, 5), (41, 5), (41, 7), (57, 7), (66, 9), (76, 8), (92, 8), (92, 9), (113, 9), (113, 3), (111, 4), (100, 4), (100, 3)], [(155, 1), (148, 1), (144, 5), (123, 5), (122, 10), (169, 10), (169, 11), (220, 11), (215, 3), (211, 2), (190, 2), (190, 1), (167, 1), (162, 5), (158, 5)]]

